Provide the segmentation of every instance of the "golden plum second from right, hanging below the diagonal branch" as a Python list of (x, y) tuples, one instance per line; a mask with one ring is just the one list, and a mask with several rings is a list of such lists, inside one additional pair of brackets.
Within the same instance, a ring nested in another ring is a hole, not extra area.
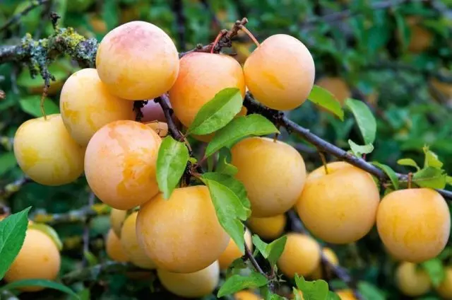
[(379, 190), (371, 177), (349, 163), (328, 163), (306, 180), (297, 202), (303, 224), (327, 243), (352, 243), (365, 236), (375, 224)]

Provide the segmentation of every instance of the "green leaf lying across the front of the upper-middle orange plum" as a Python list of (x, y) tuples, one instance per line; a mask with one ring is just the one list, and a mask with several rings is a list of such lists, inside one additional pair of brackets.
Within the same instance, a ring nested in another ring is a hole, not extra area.
[(243, 97), (239, 88), (225, 88), (198, 111), (187, 133), (210, 134), (225, 127), (240, 112)]

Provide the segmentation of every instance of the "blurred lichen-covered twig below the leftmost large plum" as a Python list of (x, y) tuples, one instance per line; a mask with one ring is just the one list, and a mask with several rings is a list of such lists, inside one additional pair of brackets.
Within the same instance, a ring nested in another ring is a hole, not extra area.
[(60, 223), (85, 223), (88, 219), (104, 214), (109, 214), (110, 207), (107, 204), (92, 204), (81, 209), (72, 210), (62, 214), (47, 214), (47, 212), (37, 211), (30, 217), (33, 221), (46, 224)]

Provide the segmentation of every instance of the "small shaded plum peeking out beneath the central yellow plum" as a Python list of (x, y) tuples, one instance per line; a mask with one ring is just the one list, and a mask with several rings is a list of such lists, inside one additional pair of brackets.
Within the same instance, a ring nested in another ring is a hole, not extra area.
[(266, 240), (273, 240), (283, 234), (286, 221), (285, 214), (277, 214), (267, 218), (251, 217), (246, 222), (253, 233)]

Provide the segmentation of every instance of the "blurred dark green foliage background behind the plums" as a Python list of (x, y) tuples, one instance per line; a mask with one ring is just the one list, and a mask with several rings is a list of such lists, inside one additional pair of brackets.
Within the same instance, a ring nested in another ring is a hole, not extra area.
[[(0, 25), (32, 1), (1, 0)], [(316, 83), (330, 89), (339, 99), (364, 100), (378, 122), (375, 150), (368, 161), (379, 161), (400, 173), (412, 168), (399, 166), (400, 158), (413, 158), (422, 166), (423, 146), (439, 155), (444, 169), (452, 173), (452, 1), (371, 0), (54, 0), (52, 11), (61, 16), (61, 26), (71, 26), (86, 37), (102, 37), (121, 23), (148, 21), (160, 26), (176, 43), (179, 52), (198, 43), (207, 44), (219, 30), (242, 17), (246, 26), (263, 41), (275, 33), (287, 33), (302, 40), (314, 56)], [(52, 25), (40, 6), (20, 18), (8, 30), (0, 31), (0, 45), (15, 45), (26, 33), (34, 38), (52, 34)], [(240, 33), (232, 49), (225, 50), (240, 63), (254, 50), (249, 37)], [(59, 90), (65, 79), (78, 69), (69, 57), (50, 67), (52, 82), (46, 112), (59, 111)], [(0, 65), (0, 188), (23, 176), (13, 156), (11, 137), (18, 126), (40, 117), (39, 101), (43, 82), (30, 77), (26, 66)], [(344, 149), (347, 140), (360, 140), (351, 115), (344, 122), (304, 103), (290, 117), (323, 139)], [(289, 140), (307, 161), (309, 170), (321, 165), (314, 148), (295, 137)], [(331, 157), (328, 159), (332, 159)], [(451, 186), (449, 185), (450, 189)], [(64, 213), (88, 203), (84, 178), (71, 185), (49, 188), (36, 183), (23, 185), (4, 204), (13, 212), (32, 205), (49, 213)], [(0, 193), (1, 200), (1, 193)], [(83, 224), (55, 226), (65, 242), (61, 273), (80, 267), (83, 258)], [(289, 227), (288, 227), (289, 228)], [(90, 249), (98, 260), (106, 260), (103, 236), (109, 229), (108, 216), (93, 219)], [(350, 246), (334, 248), (341, 265), (359, 281), (366, 299), (405, 299), (394, 286), (396, 262), (383, 251), (376, 232)], [(451, 248), (441, 255), (449, 262)], [(441, 272), (441, 271), (439, 271)], [(364, 282), (364, 283), (363, 283)], [(331, 282), (334, 287), (341, 283)], [(122, 275), (91, 282), (91, 299), (159, 299), (150, 294), (149, 282)], [(76, 285), (77, 287), (77, 285)], [(83, 286), (78, 284), (78, 289)], [(168, 297), (168, 295), (166, 295)], [(23, 294), (20, 299), (60, 299), (61, 294), (44, 291)], [(89, 299), (89, 298), (88, 298)], [(212, 296), (211, 299), (215, 299)], [(407, 298), (408, 299), (408, 298)], [(419, 299), (440, 299), (431, 292)]]

